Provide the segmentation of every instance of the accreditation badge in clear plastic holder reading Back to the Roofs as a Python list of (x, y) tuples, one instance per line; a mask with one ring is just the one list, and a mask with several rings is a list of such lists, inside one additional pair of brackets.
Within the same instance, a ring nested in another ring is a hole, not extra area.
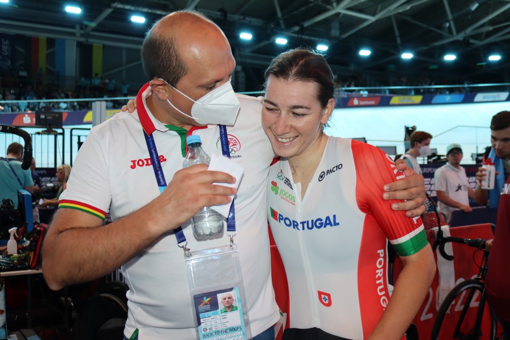
[(251, 339), (237, 246), (194, 251), (190, 255), (186, 257), (186, 271), (197, 339)]

